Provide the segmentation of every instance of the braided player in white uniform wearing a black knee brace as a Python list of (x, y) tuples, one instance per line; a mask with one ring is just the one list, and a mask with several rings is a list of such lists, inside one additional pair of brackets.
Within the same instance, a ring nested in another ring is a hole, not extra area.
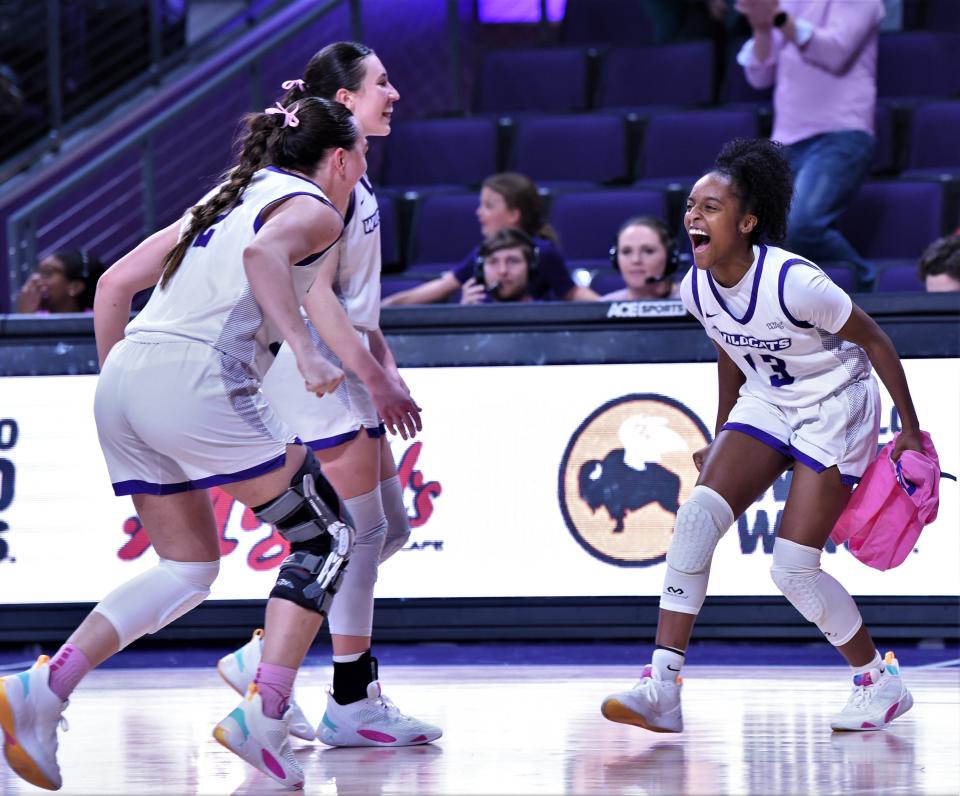
[[(61, 785), (57, 726), (80, 679), (210, 593), (219, 540), (204, 488), (218, 485), (276, 524), (291, 555), (271, 595), (261, 671), (215, 737), (278, 782), (302, 786), (283, 675), (295, 673), (329, 610), (353, 531), (313, 453), (259, 387), (277, 335), (313, 400), (343, 378), (307, 333), (300, 302), (311, 263), (341, 236), (334, 203), (346, 206), (365, 151), (362, 128), (339, 103), (311, 97), (251, 114), (226, 181), (100, 280), (97, 429), (114, 490), (132, 496), (159, 562), (108, 594), (52, 660), (0, 680), (4, 752), (29, 782)], [(124, 331), (133, 295), (158, 281)]]

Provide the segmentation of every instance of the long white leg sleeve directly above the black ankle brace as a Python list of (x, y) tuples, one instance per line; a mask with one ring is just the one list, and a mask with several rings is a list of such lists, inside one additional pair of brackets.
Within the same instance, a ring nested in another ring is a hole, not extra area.
[(330, 632), (369, 636), (373, 632), (373, 588), (387, 533), (380, 488), (343, 501), (353, 517), (356, 537), (350, 561), (327, 617)]

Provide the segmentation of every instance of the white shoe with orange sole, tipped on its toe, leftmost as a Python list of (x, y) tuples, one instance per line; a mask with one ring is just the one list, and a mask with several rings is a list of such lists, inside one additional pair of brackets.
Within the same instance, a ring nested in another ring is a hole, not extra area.
[(3, 754), (10, 768), (31, 785), (59, 790), (57, 726), (67, 729), (61, 701), (50, 690), (50, 659), (41, 655), (25, 672), (0, 679)]

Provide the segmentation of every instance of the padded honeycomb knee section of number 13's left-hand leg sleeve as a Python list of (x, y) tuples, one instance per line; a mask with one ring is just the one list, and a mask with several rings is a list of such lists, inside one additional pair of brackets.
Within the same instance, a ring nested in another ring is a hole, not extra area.
[(688, 575), (705, 572), (713, 551), (733, 524), (733, 511), (724, 498), (708, 486), (696, 486), (677, 510), (667, 564)]

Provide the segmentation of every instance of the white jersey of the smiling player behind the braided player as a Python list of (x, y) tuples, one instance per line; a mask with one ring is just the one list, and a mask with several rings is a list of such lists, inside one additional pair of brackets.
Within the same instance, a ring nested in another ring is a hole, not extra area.
[(333, 283), (347, 317), (357, 328), (380, 327), (380, 208), (366, 177), (353, 189), (340, 260)]

